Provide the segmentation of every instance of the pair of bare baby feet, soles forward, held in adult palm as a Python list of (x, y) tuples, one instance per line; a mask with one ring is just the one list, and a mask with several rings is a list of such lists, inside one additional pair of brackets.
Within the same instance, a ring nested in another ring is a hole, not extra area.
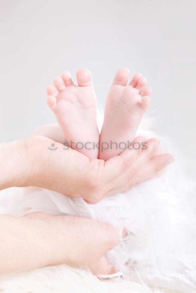
[[(47, 104), (66, 137), (66, 145), (89, 159), (108, 160), (117, 156), (135, 138), (140, 121), (151, 105), (152, 89), (140, 73), (130, 83), (129, 70), (119, 69), (108, 92), (104, 122), (99, 135), (97, 101), (90, 72), (81, 68), (76, 73), (78, 86), (68, 71), (47, 86)], [(128, 143), (129, 142), (129, 143)], [(98, 149), (98, 146), (100, 149)]]

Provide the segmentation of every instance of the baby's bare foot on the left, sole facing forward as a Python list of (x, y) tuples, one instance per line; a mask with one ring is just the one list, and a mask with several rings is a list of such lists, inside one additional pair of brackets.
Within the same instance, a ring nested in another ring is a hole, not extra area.
[(68, 71), (54, 79), (53, 86), (47, 86), (47, 104), (66, 137), (66, 145), (77, 149), (89, 159), (98, 158), (99, 142), (97, 126), (97, 102), (90, 72), (81, 68), (76, 73), (76, 86)]

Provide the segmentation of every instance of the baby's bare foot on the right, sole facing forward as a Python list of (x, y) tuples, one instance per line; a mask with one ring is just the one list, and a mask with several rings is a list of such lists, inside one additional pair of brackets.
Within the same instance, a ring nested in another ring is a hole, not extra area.
[(128, 78), (129, 70), (126, 68), (119, 69), (114, 76), (105, 103), (99, 159), (117, 156), (128, 141), (133, 141), (143, 114), (151, 105), (152, 89), (146, 87), (146, 79), (136, 73), (127, 85)]

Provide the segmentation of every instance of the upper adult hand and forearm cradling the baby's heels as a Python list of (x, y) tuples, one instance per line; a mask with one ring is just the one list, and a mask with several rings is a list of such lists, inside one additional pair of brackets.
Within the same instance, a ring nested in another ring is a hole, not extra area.
[[(137, 137), (133, 144), (142, 144)], [(132, 145), (133, 145), (132, 144)], [(41, 136), (1, 144), (1, 189), (11, 186), (38, 186), (89, 203), (127, 190), (155, 175), (172, 163), (170, 154), (155, 156), (157, 139), (147, 141), (147, 149), (125, 149), (108, 161), (89, 160), (76, 150)], [(130, 147), (131, 148), (131, 147)]]

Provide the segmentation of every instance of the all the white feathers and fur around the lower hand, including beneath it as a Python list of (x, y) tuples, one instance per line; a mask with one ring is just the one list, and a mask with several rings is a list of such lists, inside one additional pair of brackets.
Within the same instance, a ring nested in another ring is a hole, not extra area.
[(105, 282), (67, 266), (40, 268), (1, 277), (0, 292), (196, 292), (196, 189), (179, 169), (171, 165), (160, 177), (96, 205), (46, 189), (24, 198), (22, 189), (1, 192), (1, 213), (22, 215), (31, 207), (29, 212), (97, 218), (129, 233), (108, 253), (122, 277)]

